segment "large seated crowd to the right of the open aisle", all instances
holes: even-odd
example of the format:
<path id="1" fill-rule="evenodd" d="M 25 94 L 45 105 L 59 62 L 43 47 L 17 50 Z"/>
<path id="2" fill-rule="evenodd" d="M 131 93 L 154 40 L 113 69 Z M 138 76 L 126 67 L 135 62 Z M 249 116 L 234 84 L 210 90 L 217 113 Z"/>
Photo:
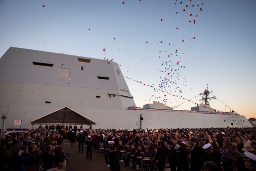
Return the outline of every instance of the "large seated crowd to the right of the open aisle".
<path id="1" fill-rule="evenodd" d="M 144 157 L 151 157 L 151 168 L 157 167 L 158 170 L 166 167 L 171 170 L 246 170 L 253 167 L 247 168 L 243 159 L 245 151 L 255 154 L 255 130 L 98 129 L 91 131 L 91 134 L 98 135 L 98 141 L 103 141 L 104 149 L 107 148 L 107 142 L 113 140 L 117 149 L 125 151 L 120 161 L 134 168 L 140 167 Z"/>

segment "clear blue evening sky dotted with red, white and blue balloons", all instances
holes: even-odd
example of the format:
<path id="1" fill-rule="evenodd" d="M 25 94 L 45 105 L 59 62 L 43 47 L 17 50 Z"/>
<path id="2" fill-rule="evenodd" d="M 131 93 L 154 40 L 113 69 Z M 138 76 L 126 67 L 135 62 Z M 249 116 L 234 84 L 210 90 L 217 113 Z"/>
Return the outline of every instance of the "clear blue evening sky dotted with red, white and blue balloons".
<path id="1" fill-rule="evenodd" d="M 113 59 L 138 107 L 190 109 L 208 84 L 212 108 L 256 118 L 255 17 L 254 0 L 0 0 L 0 56 Z"/>

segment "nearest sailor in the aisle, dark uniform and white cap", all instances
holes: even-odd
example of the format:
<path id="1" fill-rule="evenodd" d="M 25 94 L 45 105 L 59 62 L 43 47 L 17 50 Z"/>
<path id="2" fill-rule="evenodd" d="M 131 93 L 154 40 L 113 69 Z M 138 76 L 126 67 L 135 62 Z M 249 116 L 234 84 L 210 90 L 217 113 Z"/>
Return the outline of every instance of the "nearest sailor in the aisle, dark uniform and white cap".
<path id="1" fill-rule="evenodd" d="M 120 171 L 120 164 L 118 160 L 118 151 L 116 147 L 114 147 L 114 141 L 108 141 L 109 148 L 105 153 L 105 161 L 110 170 L 112 171 Z M 120 151 L 119 151 L 120 153 Z"/>

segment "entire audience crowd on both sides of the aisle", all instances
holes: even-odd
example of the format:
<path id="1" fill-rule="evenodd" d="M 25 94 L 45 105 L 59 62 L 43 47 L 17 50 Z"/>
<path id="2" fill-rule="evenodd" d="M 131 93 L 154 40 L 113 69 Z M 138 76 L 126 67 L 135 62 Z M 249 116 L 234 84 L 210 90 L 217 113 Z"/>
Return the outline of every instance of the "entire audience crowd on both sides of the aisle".
<path id="1" fill-rule="evenodd" d="M 66 128 L 67 127 L 67 128 Z M 92 149 L 105 154 L 110 170 L 120 162 L 135 169 L 145 157 L 150 167 L 163 170 L 256 170 L 256 128 L 201 129 L 78 129 L 76 126 L 38 128 L 1 136 L 0 170 L 65 170 L 62 140 L 78 144 L 93 160 Z M 64 128 L 64 129 L 63 129 Z M 76 143 L 78 141 L 78 143 Z"/>

